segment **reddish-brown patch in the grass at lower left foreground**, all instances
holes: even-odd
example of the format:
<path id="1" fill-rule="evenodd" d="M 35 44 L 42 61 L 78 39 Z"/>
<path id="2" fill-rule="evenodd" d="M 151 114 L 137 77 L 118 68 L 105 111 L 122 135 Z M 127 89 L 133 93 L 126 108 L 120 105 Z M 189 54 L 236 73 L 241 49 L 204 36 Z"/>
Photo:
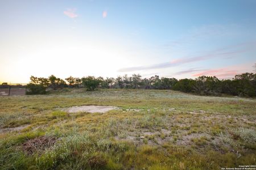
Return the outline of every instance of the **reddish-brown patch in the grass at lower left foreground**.
<path id="1" fill-rule="evenodd" d="M 23 143 L 22 150 L 25 151 L 28 155 L 32 155 L 34 152 L 42 152 L 53 146 L 56 142 L 54 137 L 38 137 L 30 139 L 27 142 Z"/>

